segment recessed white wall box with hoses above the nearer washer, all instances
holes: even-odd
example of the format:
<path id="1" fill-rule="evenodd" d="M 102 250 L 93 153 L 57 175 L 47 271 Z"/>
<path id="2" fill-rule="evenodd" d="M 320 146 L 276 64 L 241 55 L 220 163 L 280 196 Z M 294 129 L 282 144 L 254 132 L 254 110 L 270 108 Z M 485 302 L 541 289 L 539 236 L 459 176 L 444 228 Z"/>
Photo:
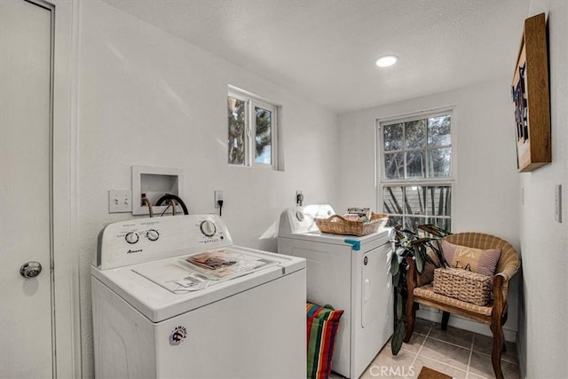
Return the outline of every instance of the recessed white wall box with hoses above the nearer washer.
<path id="1" fill-rule="evenodd" d="M 149 214 L 147 205 L 142 201 L 142 194 L 144 193 L 152 204 L 155 216 L 161 215 L 164 211 L 171 215 L 172 209 L 171 207 L 168 208 L 168 204 L 164 203 L 161 206 L 155 204 L 166 193 L 175 194 L 185 201 L 183 183 L 184 173 L 181 169 L 132 166 L 132 214 Z M 177 205 L 176 213 L 182 212 L 183 209 Z"/>

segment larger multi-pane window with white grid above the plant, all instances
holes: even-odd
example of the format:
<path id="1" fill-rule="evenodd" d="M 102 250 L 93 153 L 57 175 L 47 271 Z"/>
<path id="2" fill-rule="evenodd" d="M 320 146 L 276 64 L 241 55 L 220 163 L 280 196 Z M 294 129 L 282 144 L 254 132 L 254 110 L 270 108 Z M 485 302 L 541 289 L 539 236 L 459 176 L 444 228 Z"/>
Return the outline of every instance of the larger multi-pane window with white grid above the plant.
<path id="1" fill-rule="evenodd" d="M 379 203 L 390 225 L 451 230 L 452 110 L 378 121 Z"/>

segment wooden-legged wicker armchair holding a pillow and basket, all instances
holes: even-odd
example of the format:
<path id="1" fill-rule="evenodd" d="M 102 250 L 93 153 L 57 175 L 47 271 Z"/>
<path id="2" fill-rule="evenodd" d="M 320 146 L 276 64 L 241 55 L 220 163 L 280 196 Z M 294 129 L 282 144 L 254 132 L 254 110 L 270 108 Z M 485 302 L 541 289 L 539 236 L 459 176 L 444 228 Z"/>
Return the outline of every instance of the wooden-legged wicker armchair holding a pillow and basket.
<path id="1" fill-rule="evenodd" d="M 520 258 L 517 250 L 509 242 L 498 237 L 483 233 L 455 233 L 447 236 L 446 241 L 456 245 L 468 246 L 476 249 L 501 249 L 501 257 L 493 277 L 493 301 L 486 306 L 479 306 L 462 302 L 452 297 L 446 297 L 434 293 L 430 283 L 424 283 L 423 276 L 419 277 L 412 258 L 407 258 L 408 272 L 406 283 L 408 299 L 406 302 L 406 335 L 407 343 L 414 330 L 415 310 L 414 304 L 424 304 L 441 310 L 442 329 L 446 330 L 450 313 L 458 314 L 470 320 L 475 320 L 489 325 L 493 333 L 493 371 L 495 377 L 503 378 L 501 371 L 501 352 L 504 347 L 503 324 L 507 321 L 507 290 L 509 280 L 517 272 L 520 266 Z M 418 284 L 420 283 L 420 285 Z"/>

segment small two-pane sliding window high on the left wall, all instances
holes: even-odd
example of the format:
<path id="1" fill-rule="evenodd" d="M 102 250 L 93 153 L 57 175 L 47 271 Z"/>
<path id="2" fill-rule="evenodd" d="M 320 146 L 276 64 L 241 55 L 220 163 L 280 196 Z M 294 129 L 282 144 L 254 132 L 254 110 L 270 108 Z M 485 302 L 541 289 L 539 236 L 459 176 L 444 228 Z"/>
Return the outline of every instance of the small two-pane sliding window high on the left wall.
<path id="1" fill-rule="evenodd" d="M 227 162 L 277 170 L 277 107 L 231 88 L 228 97 Z"/>

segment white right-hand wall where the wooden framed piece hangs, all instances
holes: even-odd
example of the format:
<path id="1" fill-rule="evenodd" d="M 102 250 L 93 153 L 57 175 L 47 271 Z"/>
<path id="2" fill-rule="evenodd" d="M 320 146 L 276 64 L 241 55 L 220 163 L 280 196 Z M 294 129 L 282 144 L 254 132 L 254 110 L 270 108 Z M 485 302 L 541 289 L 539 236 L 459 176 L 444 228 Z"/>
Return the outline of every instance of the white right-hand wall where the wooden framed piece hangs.
<path id="1" fill-rule="evenodd" d="M 548 66 L 552 127 L 552 163 L 520 175 L 525 191 L 521 207 L 520 236 L 523 247 L 523 293 L 519 322 L 521 368 L 525 377 L 568 377 L 568 3 L 533 1 L 533 16 L 548 17 Z M 530 107 L 530 106 L 529 106 Z M 554 217 L 554 188 L 562 185 L 563 222 Z"/>

